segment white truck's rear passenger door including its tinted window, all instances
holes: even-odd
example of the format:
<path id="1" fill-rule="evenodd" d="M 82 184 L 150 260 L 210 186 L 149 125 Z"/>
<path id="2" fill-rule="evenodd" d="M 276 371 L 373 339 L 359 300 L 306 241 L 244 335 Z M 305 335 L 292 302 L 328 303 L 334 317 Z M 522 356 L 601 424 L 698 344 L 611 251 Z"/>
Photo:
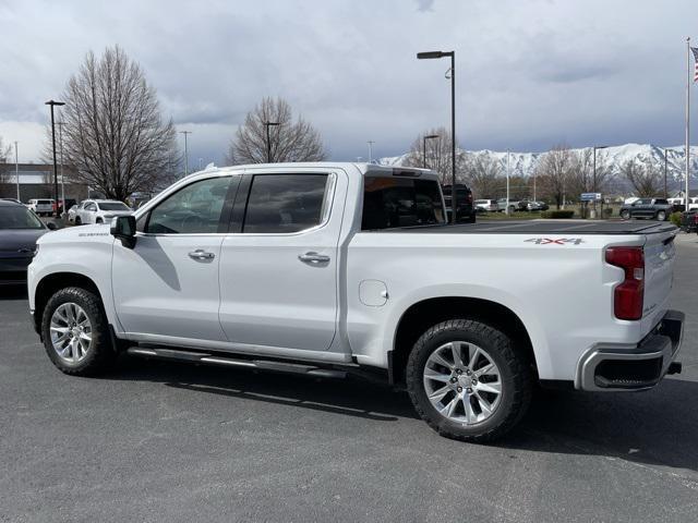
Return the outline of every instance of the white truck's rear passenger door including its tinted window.
<path id="1" fill-rule="evenodd" d="M 345 177 L 326 169 L 245 171 L 220 252 L 220 324 L 228 341 L 329 348 L 344 210 L 336 190 Z"/>

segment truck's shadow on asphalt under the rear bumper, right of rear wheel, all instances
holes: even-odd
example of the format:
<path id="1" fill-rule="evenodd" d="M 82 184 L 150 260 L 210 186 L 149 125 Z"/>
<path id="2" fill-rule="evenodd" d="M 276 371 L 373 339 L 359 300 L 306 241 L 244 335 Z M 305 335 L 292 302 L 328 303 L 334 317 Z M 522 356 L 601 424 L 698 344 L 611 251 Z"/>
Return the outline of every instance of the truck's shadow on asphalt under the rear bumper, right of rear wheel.
<path id="1" fill-rule="evenodd" d="M 496 446 L 698 471 L 696 399 L 698 382 L 673 378 L 646 392 L 543 391 Z"/>

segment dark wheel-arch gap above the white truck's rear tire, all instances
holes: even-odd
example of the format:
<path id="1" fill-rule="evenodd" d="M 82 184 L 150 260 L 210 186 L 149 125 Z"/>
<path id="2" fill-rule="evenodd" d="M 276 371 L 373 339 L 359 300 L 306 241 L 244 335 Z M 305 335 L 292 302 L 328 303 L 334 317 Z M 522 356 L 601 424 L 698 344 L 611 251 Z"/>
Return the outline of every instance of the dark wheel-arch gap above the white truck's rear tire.
<path id="1" fill-rule="evenodd" d="M 457 318 L 482 321 L 507 333 L 538 372 L 531 337 L 521 318 L 509 307 L 479 297 L 430 297 L 410 305 L 398 320 L 393 349 L 388 353 L 390 382 L 405 385 L 407 360 L 420 336 L 441 321 Z"/>

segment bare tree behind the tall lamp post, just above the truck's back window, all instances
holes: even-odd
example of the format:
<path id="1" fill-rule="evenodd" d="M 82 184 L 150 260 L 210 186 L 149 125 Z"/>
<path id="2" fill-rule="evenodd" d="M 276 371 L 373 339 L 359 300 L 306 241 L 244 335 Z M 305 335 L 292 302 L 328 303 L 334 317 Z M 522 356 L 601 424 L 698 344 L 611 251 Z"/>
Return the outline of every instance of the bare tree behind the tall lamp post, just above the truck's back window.
<path id="1" fill-rule="evenodd" d="M 424 141 L 424 136 L 437 136 Z M 426 148 L 424 148 L 426 144 Z M 445 127 L 430 129 L 420 134 L 407 155 L 404 163 L 406 167 L 424 167 L 438 173 L 442 184 L 448 185 L 453 181 L 453 139 L 450 133 Z M 456 144 L 456 181 L 464 181 L 466 178 L 466 154 Z"/>

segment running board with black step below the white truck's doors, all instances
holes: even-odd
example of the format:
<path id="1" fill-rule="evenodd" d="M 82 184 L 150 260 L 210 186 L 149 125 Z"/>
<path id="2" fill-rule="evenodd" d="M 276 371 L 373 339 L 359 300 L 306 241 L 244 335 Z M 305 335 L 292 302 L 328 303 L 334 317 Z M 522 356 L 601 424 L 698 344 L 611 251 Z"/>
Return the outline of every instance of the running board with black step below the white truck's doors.
<path id="1" fill-rule="evenodd" d="M 346 370 L 336 370 L 333 368 L 322 368 L 314 365 L 305 365 L 300 363 L 278 362 L 270 360 L 238 360 L 232 357 L 224 357 L 207 354 L 205 352 L 179 351 L 172 349 L 154 349 L 131 346 L 127 350 L 128 354 L 144 357 L 157 357 L 161 360 L 177 360 L 180 362 L 201 363 L 208 365 L 219 365 L 224 367 L 246 367 L 260 370 L 276 370 L 279 373 L 302 374 L 305 376 L 314 376 L 317 378 L 346 378 Z"/>

